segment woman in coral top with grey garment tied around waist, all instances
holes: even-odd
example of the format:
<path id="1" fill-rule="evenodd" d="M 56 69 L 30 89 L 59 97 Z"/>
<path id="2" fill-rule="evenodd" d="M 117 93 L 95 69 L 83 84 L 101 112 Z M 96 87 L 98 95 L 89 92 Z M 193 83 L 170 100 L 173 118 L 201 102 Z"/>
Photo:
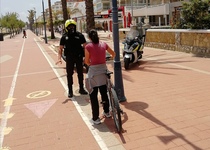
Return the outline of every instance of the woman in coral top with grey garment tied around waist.
<path id="1" fill-rule="evenodd" d="M 92 108 L 92 121 L 94 124 L 100 124 L 99 118 L 99 103 L 98 90 L 101 94 L 103 104 L 103 115 L 111 117 L 109 114 L 109 100 L 106 86 L 106 51 L 112 58 L 115 57 L 115 52 L 107 45 L 107 43 L 99 41 L 98 33 L 92 29 L 88 33 L 90 43 L 85 46 L 85 63 L 89 66 L 86 78 L 86 88 L 90 95 Z"/>

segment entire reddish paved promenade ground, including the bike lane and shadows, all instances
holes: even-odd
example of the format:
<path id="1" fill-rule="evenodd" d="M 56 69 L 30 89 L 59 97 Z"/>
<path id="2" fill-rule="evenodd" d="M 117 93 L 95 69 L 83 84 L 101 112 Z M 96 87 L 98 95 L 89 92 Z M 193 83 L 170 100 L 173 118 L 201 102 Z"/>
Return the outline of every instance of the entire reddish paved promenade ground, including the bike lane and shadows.
<path id="1" fill-rule="evenodd" d="M 111 118 L 90 122 L 76 73 L 67 98 L 65 62 L 55 65 L 59 39 L 27 34 L 0 42 L 0 150 L 210 150 L 209 58 L 145 47 L 129 70 L 122 62 L 127 101 L 118 134 Z M 99 35 L 113 47 L 111 33 Z M 113 61 L 107 66 L 114 70 Z"/>

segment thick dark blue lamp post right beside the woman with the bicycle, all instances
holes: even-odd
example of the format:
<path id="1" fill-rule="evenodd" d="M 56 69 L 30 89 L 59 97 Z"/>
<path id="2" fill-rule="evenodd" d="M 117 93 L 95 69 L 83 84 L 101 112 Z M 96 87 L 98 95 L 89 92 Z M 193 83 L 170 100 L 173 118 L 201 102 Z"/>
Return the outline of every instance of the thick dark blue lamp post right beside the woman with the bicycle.
<path id="1" fill-rule="evenodd" d="M 126 97 L 124 95 L 122 70 L 120 62 L 117 0 L 112 0 L 112 16 L 113 16 L 112 22 L 113 22 L 114 51 L 116 53 L 116 56 L 114 58 L 114 83 L 119 101 L 124 102 L 126 101 Z"/>

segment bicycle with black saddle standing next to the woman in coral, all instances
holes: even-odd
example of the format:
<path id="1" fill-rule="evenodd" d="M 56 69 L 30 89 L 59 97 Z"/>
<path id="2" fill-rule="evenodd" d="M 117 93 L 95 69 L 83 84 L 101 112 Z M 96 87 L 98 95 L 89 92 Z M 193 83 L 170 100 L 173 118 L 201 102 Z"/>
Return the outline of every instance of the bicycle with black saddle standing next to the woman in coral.
<path id="1" fill-rule="evenodd" d="M 122 131 L 121 114 L 123 114 L 123 111 L 120 108 L 119 99 L 114 89 L 114 85 L 111 81 L 111 74 L 113 74 L 113 72 L 107 70 L 106 75 L 107 75 L 107 92 L 108 92 L 108 98 L 109 98 L 109 109 L 110 109 L 110 114 L 112 115 L 114 119 L 114 123 L 117 128 L 117 131 L 121 132 Z"/>

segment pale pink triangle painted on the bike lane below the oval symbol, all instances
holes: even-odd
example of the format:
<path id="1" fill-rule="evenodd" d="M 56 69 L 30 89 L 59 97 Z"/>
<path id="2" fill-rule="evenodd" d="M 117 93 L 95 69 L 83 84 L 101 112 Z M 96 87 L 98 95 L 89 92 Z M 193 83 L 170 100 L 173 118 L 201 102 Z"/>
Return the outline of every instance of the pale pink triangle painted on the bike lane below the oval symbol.
<path id="1" fill-rule="evenodd" d="M 57 99 L 34 102 L 24 104 L 29 110 L 31 110 L 39 119 L 50 109 L 50 107 L 56 102 Z"/>

